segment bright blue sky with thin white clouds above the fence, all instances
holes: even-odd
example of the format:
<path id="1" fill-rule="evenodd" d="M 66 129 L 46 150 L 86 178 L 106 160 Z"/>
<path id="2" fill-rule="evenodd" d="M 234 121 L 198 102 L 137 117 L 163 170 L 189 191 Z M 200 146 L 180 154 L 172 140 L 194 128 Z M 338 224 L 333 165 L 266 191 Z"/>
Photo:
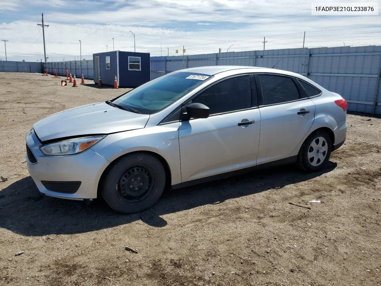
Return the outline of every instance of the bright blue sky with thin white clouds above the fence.
<path id="1" fill-rule="evenodd" d="M 315 1 L 332 3 L 333 1 Z M 343 45 L 381 45 L 378 16 L 311 16 L 314 1 L 0 0 L 0 38 L 8 60 L 92 59 L 122 50 L 151 56 Z M 348 1 L 336 0 L 335 3 Z M 352 2 L 352 1 L 351 1 Z M 381 0 L 357 0 L 379 3 Z M 135 35 L 135 47 L 134 36 Z M 114 38 L 114 40 L 113 40 Z M 80 42 L 81 41 L 81 42 Z M 5 60 L 4 42 L 0 58 Z"/>

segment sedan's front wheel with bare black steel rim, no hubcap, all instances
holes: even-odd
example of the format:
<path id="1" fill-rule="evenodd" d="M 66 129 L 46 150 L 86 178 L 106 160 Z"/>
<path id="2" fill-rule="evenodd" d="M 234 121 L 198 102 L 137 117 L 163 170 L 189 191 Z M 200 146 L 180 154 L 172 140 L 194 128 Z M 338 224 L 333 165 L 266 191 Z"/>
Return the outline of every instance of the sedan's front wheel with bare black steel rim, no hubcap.
<path id="1" fill-rule="evenodd" d="M 165 188 L 165 170 L 157 157 L 132 153 L 121 157 L 108 170 L 101 193 L 115 211 L 133 214 L 158 201 Z"/>

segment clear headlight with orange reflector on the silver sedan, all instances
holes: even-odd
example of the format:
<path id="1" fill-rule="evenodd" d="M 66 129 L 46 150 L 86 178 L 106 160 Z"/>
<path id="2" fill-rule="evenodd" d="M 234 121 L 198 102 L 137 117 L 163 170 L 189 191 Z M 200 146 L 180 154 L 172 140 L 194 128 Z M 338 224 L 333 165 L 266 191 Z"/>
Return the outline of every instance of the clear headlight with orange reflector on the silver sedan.
<path id="1" fill-rule="evenodd" d="M 78 137 L 62 140 L 40 147 L 45 155 L 72 155 L 81 153 L 101 141 L 106 135 Z"/>

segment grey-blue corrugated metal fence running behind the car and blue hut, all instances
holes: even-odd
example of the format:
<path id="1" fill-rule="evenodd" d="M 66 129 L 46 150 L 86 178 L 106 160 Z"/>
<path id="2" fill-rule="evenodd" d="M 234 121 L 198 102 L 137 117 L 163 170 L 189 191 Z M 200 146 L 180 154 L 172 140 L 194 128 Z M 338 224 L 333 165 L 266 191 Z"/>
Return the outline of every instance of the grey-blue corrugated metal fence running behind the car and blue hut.
<path id="1" fill-rule="evenodd" d="M 68 72 L 94 79 L 93 60 L 64 62 L 2 61 L 4 72 L 43 72 L 66 77 Z M 349 111 L 381 114 L 381 46 L 296 48 L 151 57 L 151 79 L 168 72 L 199 66 L 259 66 L 296 72 L 341 94 Z M 42 67 L 42 69 L 41 69 Z"/>

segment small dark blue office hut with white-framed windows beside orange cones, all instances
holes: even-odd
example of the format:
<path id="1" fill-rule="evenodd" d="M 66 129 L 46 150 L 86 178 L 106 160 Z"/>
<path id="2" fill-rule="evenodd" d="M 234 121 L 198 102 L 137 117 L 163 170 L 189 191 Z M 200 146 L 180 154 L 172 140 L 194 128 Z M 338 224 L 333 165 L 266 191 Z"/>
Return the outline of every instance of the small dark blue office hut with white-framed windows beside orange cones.
<path id="1" fill-rule="evenodd" d="M 131 51 L 109 51 L 93 54 L 94 82 L 101 74 L 102 84 L 138 87 L 150 80 L 150 54 Z"/>

